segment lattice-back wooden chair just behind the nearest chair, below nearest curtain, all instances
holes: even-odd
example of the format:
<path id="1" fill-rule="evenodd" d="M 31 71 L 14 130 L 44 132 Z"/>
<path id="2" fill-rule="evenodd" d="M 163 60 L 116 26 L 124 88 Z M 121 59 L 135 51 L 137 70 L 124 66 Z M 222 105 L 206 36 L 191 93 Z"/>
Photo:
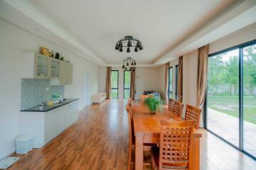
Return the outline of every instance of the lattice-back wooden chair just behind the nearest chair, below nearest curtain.
<path id="1" fill-rule="evenodd" d="M 196 120 L 195 127 L 197 130 L 200 125 L 201 109 L 191 105 L 186 105 L 185 120 Z"/>

